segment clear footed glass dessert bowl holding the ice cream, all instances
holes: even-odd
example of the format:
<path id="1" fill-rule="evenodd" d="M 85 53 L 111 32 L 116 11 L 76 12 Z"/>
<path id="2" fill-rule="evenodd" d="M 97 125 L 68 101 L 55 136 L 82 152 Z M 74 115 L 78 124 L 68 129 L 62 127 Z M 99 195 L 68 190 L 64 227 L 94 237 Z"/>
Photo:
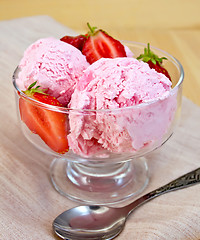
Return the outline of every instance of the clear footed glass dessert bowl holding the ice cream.
<path id="1" fill-rule="evenodd" d="M 144 51 L 144 44 L 123 43 L 134 56 Z M 152 49 L 168 59 L 164 66 L 171 76 L 172 89 L 167 96 L 134 106 L 93 110 L 48 105 L 21 91 L 16 83 L 20 69 L 14 72 L 22 132 L 53 159 L 50 176 L 60 194 L 85 204 L 115 204 L 137 196 L 147 186 L 148 153 L 165 143 L 174 132 L 180 118 L 184 78 L 178 60 L 160 49 Z M 21 101 L 37 112 L 45 111 L 53 118 L 62 119 L 62 136 L 69 150 L 57 148 L 59 137 L 53 139 L 52 146 L 39 134 L 33 134 L 23 119 Z M 48 122 L 43 124 L 47 126 Z"/>

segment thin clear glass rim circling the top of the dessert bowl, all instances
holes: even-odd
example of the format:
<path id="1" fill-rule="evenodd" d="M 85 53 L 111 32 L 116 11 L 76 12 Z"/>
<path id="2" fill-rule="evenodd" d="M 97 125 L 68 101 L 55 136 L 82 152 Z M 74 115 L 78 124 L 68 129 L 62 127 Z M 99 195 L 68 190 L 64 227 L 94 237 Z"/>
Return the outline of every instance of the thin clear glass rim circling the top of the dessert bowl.
<path id="1" fill-rule="evenodd" d="M 140 42 L 135 42 L 135 41 L 127 41 L 127 40 L 123 40 L 121 41 L 124 45 L 139 45 L 139 46 L 143 46 L 145 47 L 146 44 L 145 43 L 140 43 Z M 36 99 L 33 99 L 29 96 L 27 96 L 23 91 L 21 91 L 16 84 L 16 78 L 15 75 L 16 73 L 19 71 L 19 66 L 16 67 L 12 79 L 13 79 L 13 85 L 15 87 L 15 90 L 18 92 L 18 95 L 20 95 L 20 97 L 28 100 L 29 102 L 32 102 L 35 105 L 38 105 L 39 107 L 43 107 L 45 109 L 49 109 L 51 111 L 56 111 L 56 112 L 62 112 L 62 113 L 67 113 L 69 111 L 77 111 L 77 112 L 92 112 L 92 113 L 96 113 L 96 112 L 113 112 L 113 111 L 122 111 L 122 110 L 128 110 L 128 109 L 138 109 L 138 108 L 142 108 L 151 104 L 154 104 L 160 100 L 164 100 L 167 99 L 168 97 L 170 97 L 171 95 L 173 95 L 174 93 L 176 93 L 176 91 L 178 90 L 178 88 L 181 86 L 183 79 L 184 79 L 184 70 L 183 70 L 183 66 L 182 64 L 179 62 L 178 59 L 176 59 L 175 57 L 173 57 L 170 53 L 159 49 L 157 47 L 151 46 L 152 49 L 157 50 L 159 52 L 162 52 L 164 55 L 169 56 L 172 60 L 173 63 L 176 65 L 177 69 L 180 72 L 180 77 L 179 80 L 177 82 L 177 84 L 171 89 L 170 94 L 164 98 L 158 98 L 156 100 L 152 100 L 152 101 L 148 101 L 145 103 L 140 103 L 134 106 L 128 106 L 128 107 L 121 107 L 121 108 L 112 108 L 112 109 L 76 109 L 76 108 L 67 108 L 67 107 L 59 107 L 59 106 L 53 106 L 53 105 L 49 105 L 40 101 L 37 101 Z"/>

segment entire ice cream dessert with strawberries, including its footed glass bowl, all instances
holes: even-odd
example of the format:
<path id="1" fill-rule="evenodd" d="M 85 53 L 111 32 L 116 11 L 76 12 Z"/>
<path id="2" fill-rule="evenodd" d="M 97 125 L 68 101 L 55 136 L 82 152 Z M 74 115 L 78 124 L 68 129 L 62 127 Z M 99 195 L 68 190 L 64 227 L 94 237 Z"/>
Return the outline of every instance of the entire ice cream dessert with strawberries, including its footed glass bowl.
<path id="1" fill-rule="evenodd" d="M 121 43 L 87 25 L 86 34 L 28 47 L 13 85 L 25 137 L 55 156 L 56 190 L 83 203 L 113 204 L 148 184 L 143 156 L 172 135 L 184 74 L 173 56 L 149 43 Z"/>

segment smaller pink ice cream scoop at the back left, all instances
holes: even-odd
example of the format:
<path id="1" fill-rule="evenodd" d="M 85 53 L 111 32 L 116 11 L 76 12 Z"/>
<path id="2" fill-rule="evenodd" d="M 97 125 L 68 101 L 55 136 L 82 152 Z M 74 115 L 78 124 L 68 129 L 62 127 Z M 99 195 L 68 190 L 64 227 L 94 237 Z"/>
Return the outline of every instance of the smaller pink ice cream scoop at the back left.
<path id="1" fill-rule="evenodd" d="M 26 90 L 37 81 L 48 94 L 67 105 L 83 71 L 89 66 L 77 48 L 55 38 L 33 43 L 24 53 L 17 85 Z"/>

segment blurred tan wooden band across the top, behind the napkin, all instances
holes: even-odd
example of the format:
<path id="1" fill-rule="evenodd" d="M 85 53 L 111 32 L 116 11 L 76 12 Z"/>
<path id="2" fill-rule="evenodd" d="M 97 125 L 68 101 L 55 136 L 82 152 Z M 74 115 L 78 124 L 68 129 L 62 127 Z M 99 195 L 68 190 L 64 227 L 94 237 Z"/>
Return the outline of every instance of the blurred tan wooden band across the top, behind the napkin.
<path id="1" fill-rule="evenodd" d="M 71 27 L 85 23 L 109 30 L 199 29 L 199 0 L 1 0 L 0 19 L 49 15 Z"/>

